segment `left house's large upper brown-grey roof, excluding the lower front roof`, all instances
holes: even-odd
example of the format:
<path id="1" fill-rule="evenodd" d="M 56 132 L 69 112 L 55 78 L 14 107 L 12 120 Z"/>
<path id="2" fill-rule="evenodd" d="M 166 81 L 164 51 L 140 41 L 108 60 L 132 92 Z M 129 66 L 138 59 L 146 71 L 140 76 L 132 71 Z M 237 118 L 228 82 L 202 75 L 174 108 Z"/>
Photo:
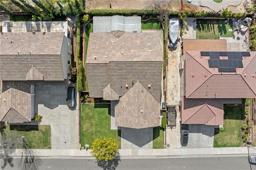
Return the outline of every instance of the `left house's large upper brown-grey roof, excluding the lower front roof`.
<path id="1" fill-rule="evenodd" d="M 1 33 L 0 78 L 64 80 L 60 56 L 63 38 L 64 32 Z"/>

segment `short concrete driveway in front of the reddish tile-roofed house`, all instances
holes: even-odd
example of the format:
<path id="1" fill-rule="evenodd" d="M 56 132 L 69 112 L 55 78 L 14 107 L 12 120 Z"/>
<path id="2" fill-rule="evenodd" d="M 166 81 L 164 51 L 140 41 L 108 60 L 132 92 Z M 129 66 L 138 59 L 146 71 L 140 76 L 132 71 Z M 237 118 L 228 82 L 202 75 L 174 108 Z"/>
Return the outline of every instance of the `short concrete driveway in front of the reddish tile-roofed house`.
<path id="1" fill-rule="evenodd" d="M 188 145 L 181 148 L 213 148 L 214 127 L 203 124 L 189 124 Z"/>

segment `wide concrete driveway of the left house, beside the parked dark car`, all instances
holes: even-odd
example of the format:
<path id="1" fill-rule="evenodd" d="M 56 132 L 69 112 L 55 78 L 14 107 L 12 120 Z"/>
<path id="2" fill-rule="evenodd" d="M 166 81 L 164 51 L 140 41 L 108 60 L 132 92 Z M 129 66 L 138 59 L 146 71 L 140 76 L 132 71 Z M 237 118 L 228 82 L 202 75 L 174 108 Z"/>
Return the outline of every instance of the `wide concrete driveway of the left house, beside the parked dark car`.
<path id="1" fill-rule="evenodd" d="M 42 115 L 40 124 L 51 125 L 52 149 L 78 148 L 77 107 L 67 107 L 66 82 L 40 82 L 35 86 L 35 113 Z"/>

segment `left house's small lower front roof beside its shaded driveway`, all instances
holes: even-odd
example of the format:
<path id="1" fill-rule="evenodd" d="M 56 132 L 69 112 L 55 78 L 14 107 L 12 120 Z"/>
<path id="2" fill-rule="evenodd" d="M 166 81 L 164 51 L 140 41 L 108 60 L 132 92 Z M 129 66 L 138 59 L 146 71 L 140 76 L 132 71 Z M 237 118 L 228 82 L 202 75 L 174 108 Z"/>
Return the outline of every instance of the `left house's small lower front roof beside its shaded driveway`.
<path id="1" fill-rule="evenodd" d="M 3 81 L 0 105 L 0 121 L 30 122 L 30 85 L 24 82 Z"/>

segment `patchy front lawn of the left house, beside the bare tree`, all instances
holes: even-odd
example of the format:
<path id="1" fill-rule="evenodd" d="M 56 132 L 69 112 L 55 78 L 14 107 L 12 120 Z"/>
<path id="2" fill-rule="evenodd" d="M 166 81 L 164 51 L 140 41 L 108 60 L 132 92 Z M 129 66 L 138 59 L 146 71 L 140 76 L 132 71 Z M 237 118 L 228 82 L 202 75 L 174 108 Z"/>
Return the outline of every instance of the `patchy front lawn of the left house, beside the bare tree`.
<path id="1" fill-rule="evenodd" d="M 25 136 L 32 149 L 51 149 L 50 125 L 5 125 L 1 130 L 15 136 Z"/>

